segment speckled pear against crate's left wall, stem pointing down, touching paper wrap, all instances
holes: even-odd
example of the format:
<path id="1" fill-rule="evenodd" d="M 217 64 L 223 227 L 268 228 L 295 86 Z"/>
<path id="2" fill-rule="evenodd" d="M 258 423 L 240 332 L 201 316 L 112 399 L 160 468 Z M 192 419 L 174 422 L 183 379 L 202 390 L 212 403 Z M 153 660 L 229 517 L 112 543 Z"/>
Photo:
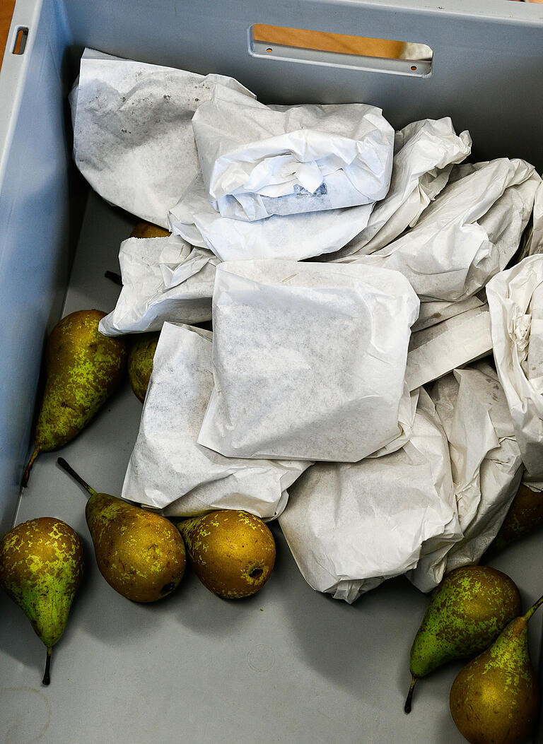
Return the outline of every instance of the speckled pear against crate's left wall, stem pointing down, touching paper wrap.
<path id="1" fill-rule="evenodd" d="M 98 331 L 105 312 L 77 310 L 66 315 L 45 346 L 45 391 L 34 432 L 34 453 L 22 486 L 39 452 L 59 449 L 79 434 L 126 373 L 124 339 Z"/>

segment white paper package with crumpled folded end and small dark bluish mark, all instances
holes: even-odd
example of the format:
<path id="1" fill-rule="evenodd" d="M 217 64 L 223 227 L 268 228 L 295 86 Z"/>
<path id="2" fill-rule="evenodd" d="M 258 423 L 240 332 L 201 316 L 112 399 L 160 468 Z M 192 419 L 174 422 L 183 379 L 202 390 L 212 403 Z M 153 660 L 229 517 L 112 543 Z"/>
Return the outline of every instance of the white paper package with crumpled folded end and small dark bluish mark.
<path id="1" fill-rule="evenodd" d="M 390 185 L 394 130 L 375 106 L 264 106 L 216 86 L 192 127 L 206 190 L 223 217 L 369 204 Z"/>

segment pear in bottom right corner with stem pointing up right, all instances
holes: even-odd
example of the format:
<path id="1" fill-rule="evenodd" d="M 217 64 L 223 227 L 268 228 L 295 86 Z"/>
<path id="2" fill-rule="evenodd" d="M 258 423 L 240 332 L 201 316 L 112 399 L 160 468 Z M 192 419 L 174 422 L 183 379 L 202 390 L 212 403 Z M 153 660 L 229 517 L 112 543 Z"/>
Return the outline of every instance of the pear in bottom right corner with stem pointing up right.
<path id="1" fill-rule="evenodd" d="M 460 671 L 451 687 L 451 715 L 471 744 L 519 744 L 536 725 L 539 687 L 528 650 L 528 620 L 511 620 L 491 647 Z"/>

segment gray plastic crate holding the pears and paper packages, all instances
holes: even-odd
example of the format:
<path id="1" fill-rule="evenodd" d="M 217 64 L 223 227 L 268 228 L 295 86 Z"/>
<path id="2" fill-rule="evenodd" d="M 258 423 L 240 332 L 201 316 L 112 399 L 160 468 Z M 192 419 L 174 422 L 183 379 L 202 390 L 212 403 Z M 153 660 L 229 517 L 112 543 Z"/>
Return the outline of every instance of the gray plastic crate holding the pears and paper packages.
<path id="1" fill-rule="evenodd" d="M 403 126 L 451 115 L 470 129 L 474 156 L 527 158 L 543 167 L 543 6 L 478 0 L 18 0 L 0 74 L 0 528 L 58 516 L 83 536 L 86 578 L 50 687 L 43 647 L 0 595 L 0 740 L 10 744 L 352 744 L 463 741 L 448 713 L 460 664 L 403 701 L 408 655 L 427 598 L 406 580 L 347 606 L 304 582 L 278 527 L 276 571 L 255 597 L 226 602 L 191 571 L 168 600 L 124 600 L 102 579 L 83 516 L 84 496 L 40 456 L 28 490 L 39 362 L 48 330 L 83 307 L 109 310 L 130 215 L 75 173 L 66 94 L 85 46 L 201 73 L 237 77 L 261 100 L 363 101 Z M 251 49 L 254 23 L 425 42 L 431 74 L 393 62 Z M 11 53 L 19 28 L 24 54 Z M 354 65 L 354 66 L 353 66 Z M 118 494 L 141 405 L 128 387 L 63 455 L 98 490 Z M 541 537 L 493 562 L 521 589 L 543 591 Z M 533 660 L 543 616 L 530 630 Z M 541 664 L 540 664 L 541 667 Z M 543 741 L 540 733 L 537 741 Z"/>

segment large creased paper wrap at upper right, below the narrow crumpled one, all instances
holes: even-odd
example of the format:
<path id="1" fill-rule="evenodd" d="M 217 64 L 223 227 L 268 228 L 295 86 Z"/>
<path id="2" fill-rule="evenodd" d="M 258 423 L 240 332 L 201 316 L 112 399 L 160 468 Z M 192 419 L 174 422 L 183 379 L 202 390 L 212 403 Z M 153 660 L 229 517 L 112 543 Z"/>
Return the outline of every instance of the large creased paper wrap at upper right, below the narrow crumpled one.
<path id="1" fill-rule="evenodd" d="M 518 249 L 541 179 L 518 159 L 456 168 L 462 177 L 448 183 L 414 228 L 370 256 L 342 262 L 396 269 L 421 301 L 460 301 L 478 292 Z"/>

